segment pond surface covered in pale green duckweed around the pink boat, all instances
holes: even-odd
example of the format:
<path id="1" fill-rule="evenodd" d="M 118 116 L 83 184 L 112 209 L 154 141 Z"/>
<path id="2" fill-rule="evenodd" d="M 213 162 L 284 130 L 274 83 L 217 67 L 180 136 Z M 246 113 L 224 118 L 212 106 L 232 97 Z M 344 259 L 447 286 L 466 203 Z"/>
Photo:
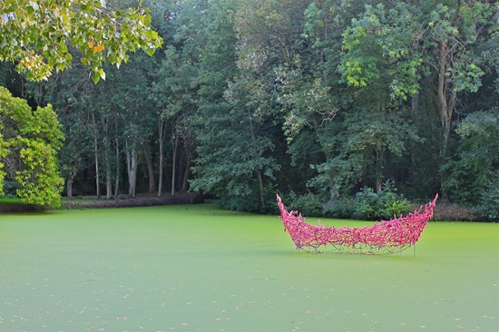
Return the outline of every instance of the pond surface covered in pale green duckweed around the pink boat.
<path id="1" fill-rule="evenodd" d="M 210 204 L 0 215 L 0 331 L 497 331 L 498 265 L 493 223 L 373 256 Z"/>

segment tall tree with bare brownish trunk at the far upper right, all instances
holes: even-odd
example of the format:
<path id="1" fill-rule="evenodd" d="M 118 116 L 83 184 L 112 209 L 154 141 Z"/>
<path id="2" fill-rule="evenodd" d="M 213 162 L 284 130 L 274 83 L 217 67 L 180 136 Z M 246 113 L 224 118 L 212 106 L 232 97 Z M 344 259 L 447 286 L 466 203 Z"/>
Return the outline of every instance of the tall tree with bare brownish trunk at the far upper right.
<path id="1" fill-rule="evenodd" d="M 429 15 L 428 15 L 429 14 Z M 438 4 L 422 17 L 426 65 L 437 76 L 436 104 L 442 126 L 441 154 L 446 156 L 458 93 L 477 92 L 484 74 L 483 59 L 474 47 L 488 38 L 497 22 L 497 6 L 479 1 Z M 422 24 L 422 25 L 423 25 Z"/>

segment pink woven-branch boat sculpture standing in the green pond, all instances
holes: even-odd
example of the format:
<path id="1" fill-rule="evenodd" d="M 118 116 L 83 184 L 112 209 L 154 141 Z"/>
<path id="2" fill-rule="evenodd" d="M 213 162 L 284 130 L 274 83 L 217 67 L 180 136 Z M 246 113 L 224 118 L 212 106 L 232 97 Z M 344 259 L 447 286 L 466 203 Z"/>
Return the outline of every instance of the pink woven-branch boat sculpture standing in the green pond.
<path id="1" fill-rule="evenodd" d="M 298 211 L 288 211 L 277 195 L 280 219 L 297 249 L 365 254 L 393 254 L 416 244 L 428 220 L 433 218 L 435 199 L 419 210 L 389 221 L 379 221 L 361 228 L 318 226 L 309 224 Z"/>

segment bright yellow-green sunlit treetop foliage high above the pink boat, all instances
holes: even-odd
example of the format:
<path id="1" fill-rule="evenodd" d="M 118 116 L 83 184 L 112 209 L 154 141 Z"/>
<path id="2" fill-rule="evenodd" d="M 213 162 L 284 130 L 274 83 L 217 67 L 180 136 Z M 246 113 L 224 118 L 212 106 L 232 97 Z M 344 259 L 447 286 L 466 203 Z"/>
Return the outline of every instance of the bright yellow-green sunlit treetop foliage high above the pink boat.
<path id="1" fill-rule="evenodd" d="M 421 54 L 412 48 L 415 17 L 405 3 L 366 5 L 343 32 L 339 72 L 350 85 L 366 87 L 384 81 L 392 97 L 406 100 L 419 90 Z M 416 30 L 416 31 L 415 31 Z"/>

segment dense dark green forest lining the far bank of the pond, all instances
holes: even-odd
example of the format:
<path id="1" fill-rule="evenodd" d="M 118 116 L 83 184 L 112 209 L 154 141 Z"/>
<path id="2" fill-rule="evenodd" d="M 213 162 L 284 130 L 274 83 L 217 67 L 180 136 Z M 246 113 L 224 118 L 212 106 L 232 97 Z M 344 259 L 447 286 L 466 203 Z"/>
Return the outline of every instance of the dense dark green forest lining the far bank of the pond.
<path id="1" fill-rule="evenodd" d="M 84 54 L 40 83 L 0 64 L 0 85 L 57 113 L 64 195 L 202 190 L 266 212 L 276 192 L 321 207 L 359 192 L 438 192 L 499 218 L 493 1 L 142 5 L 163 47 L 105 64 L 98 83 Z M 7 174 L 5 192 L 16 189 Z"/>

